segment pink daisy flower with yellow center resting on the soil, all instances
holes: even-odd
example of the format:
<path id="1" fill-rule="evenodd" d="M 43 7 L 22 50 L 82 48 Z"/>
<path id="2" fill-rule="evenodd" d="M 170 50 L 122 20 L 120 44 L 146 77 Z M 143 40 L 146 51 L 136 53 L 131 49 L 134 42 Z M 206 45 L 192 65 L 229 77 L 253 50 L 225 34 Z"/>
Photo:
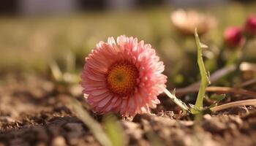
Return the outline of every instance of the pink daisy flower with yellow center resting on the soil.
<path id="1" fill-rule="evenodd" d="M 83 93 L 94 112 L 134 116 L 160 103 L 165 66 L 155 50 L 137 38 L 120 36 L 99 42 L 83 67 Z"/>

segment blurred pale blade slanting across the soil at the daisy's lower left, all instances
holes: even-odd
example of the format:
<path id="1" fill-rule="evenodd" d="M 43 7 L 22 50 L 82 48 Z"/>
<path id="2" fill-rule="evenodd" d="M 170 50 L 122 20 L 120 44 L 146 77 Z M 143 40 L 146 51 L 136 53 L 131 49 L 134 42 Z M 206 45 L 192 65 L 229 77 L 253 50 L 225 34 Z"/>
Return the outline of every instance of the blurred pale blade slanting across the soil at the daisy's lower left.
<path id="1" fill-rule="evenodd" d="M 69 98 L 69 101 L 72 106 L 72 112 L 74 112 L 74 114 L 82 120 L 84 124 L 86 124 L 99 143 L 103 146 L 112 146 L 110 139 L 105 134 L 102 127 L 96 120 L 91 118 L 89 113 L 83 109 L 82 105 L 73 98 Z"/>

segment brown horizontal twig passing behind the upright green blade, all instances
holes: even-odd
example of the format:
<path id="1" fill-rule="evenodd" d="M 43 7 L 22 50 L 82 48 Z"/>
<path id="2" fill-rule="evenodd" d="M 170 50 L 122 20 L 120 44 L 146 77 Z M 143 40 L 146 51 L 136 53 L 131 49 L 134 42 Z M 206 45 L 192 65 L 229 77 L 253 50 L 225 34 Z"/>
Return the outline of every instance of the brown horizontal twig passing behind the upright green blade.
<path id="1" fill-rule="evenodd" d="M 197 88 L 191 88 L 191 89 L 186 89 L 186 88 L 181 88 L 181 89 L 176 89 L 176 95 L 181 96 L 186 93 L 193 93 L 197 92 Z M 251 96 L 253 98 L 256 98 L 256 93 L 253 91 L 247 91 L 242 88 L 229 88 L 229 87 L 217 87 L 217 86 L 211 86 L 207 87 L 206 91 L 208 92 L 218 92 L 218 93 L 235 93 L 235 94 L 241 94 L 241 95 L 246 95 L 246 96 Z"/>

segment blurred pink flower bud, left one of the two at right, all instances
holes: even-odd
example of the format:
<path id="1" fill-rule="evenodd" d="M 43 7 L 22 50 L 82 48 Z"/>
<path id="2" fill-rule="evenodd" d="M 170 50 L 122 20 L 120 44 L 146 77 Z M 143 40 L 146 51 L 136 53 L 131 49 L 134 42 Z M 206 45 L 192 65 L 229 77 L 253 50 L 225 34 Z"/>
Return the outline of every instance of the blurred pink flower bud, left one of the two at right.
<path id="1" fill-rule="evenodd" d="M 242 30 L 238 27 L 228 27 L 224 32 L 224 41 L 227 47 L 239 47 L 244 42 Z"/>

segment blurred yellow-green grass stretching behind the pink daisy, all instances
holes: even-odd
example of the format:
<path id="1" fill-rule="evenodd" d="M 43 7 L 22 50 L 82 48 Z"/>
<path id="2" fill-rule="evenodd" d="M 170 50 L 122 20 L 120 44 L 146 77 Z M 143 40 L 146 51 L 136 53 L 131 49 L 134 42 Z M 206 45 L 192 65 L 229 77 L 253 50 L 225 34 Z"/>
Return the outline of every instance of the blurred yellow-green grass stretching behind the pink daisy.
<path id="1" fill-rule="evenodd" d="M 209 50 L 222 46 L 227 26 L 242 26 L 246 16 L 256 14 L 256 4 L 232 3 L 196 9 L 213 15 L 217 28 L 201 37 Z M 127 12 L 94 12 L 69 16 L 0 18 L 0 73 L 49 72 L 48 62 L 55 60 L 64 68 L 67 54 L 75 53 L 77 72 L 97 42 L 121 34 L 150 43 L 165 62 L 168 85 L 179 87 L 200 79 L 193 37 L 178 34 L 170 22 L 173 7 L 135 9 Z M 256 61 L 256 43 L 249 45 L 246 60 Z M 217 69 L 215 58 L 207 58 L 206 68 Z"/>

